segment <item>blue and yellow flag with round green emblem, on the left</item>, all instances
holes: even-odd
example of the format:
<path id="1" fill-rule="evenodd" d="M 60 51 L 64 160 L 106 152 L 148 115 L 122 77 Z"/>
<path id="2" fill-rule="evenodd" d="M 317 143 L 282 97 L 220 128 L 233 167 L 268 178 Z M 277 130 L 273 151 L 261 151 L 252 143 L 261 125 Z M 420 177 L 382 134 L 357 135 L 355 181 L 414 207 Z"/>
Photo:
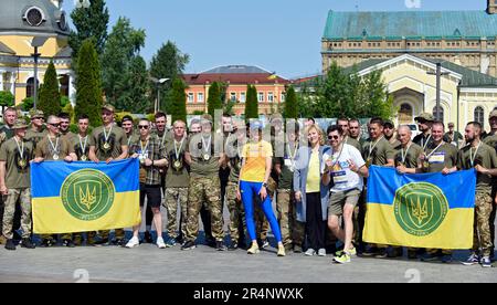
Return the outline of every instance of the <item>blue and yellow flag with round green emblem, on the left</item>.
<path id="1" fill-rule="evenodd" d="M 137 159 L 32 164 L 33 231 L 73 233 L 138 224 L 138 170 Z"/>

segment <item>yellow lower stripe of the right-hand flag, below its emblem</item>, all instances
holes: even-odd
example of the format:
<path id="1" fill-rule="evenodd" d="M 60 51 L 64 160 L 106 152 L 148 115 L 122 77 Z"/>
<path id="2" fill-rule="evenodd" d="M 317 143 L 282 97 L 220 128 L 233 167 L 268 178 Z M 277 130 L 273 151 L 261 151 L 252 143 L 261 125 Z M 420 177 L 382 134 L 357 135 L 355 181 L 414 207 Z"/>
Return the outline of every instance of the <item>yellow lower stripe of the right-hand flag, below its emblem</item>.
<path id="1" fill-rule="evenodd" d="M 473 246 L 474 209 L 451 209 L 436 231 L 414 236 L 396 222 L 394 209 L 368 204 L 363 239 L 370 243 L 430 249 L 470 249 Z"/>

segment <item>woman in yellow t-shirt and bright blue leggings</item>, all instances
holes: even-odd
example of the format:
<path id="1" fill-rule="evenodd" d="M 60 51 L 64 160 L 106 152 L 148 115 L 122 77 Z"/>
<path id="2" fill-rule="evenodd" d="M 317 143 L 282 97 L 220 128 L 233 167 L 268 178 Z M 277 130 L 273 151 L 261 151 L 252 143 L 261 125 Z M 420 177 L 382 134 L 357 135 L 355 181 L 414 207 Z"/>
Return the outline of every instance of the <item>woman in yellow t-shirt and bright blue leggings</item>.
<path id="1" fill-rule="evenodd" d="M 269 143 L 262 139 L 262 129 L 263 125 L 261 122 L 251 123 L 251 140 L 243 147 L 242 151 L 239 197 L 243 201 L 246 228 L 252 240 L 252 246 L 247 253 L 256 254 L 260 252 L 254 223 L 254 194 L 258 194 L 262 199 L 262 210 L 269 221 L 271 230 L 278 242 L 277 255 L 285 256 L 282 233 L 273 211 L 271 197 L 267 194 L 267 179 L 269 179 L 273 164 L 273 147 Z"/>

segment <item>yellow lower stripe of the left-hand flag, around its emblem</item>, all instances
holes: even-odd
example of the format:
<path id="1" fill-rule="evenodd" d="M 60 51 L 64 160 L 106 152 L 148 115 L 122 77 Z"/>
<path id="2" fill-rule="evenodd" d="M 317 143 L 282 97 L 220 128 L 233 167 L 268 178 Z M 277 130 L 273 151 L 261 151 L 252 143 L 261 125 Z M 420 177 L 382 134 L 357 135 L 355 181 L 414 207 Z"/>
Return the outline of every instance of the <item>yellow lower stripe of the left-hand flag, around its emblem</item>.
<path id="1" fill-rule="evenodd" d="M 60 197 L 33 199 L 33 231 L 38 234 L 129 228 L 140 221 L 139 191 L 117 192 L 110 210 L 93 221 L 74 218 L 65 210 Z"/>

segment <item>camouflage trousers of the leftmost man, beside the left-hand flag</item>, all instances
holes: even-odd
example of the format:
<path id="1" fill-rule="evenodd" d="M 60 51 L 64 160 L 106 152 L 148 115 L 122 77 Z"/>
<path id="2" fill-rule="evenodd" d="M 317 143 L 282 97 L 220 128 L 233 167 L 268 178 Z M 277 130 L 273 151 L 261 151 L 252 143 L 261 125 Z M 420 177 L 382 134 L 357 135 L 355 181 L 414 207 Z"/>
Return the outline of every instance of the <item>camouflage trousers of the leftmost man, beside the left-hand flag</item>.
<path id="1" fill-rule="evenodd" d="M 13 239 L 13 219 L 15 213 L 15 202 L 20 199 L 22 217 L 21 217 L 21 228 L 22 238 L 29 239 L 31 235 L 31 189 L 9 189 L 7 194 L 7 200 L 4 202 L 2 230 L 3 236 L 6 239 Z"/>

